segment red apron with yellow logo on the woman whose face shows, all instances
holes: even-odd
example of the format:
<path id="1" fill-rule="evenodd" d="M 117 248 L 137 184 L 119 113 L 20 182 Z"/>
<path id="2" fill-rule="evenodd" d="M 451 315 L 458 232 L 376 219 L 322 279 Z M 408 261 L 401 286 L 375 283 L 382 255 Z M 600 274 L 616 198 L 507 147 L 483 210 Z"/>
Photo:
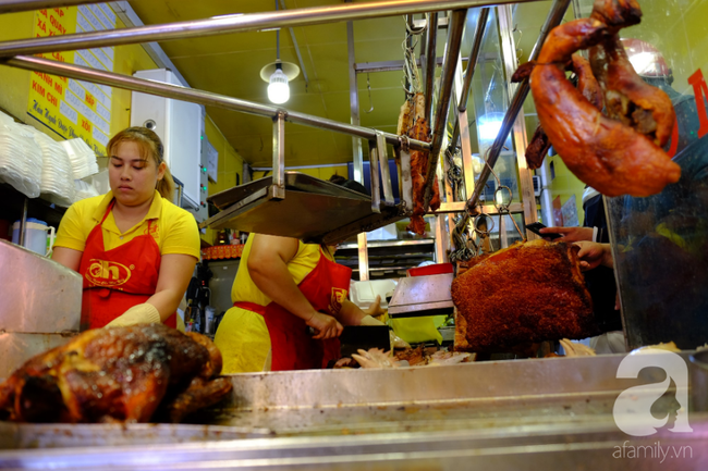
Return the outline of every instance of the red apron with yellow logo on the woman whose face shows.
<path id="1" fill-rule="evenodd" d="M 101 222 L 88 234 L 78 267 L 84 278 L 82 331 L 103 327 L 127 309 L 147 301 L 155 294 L 160 275 L 160 248 L 150 235 L 154 230 L 151 220 L 146 234 L 114 249 L 105 249 L 101 226 L 113 203 L 114 200 L 108 206 Z M 164 324 L 176 327 L 176 313 L 170 315 Z"/>

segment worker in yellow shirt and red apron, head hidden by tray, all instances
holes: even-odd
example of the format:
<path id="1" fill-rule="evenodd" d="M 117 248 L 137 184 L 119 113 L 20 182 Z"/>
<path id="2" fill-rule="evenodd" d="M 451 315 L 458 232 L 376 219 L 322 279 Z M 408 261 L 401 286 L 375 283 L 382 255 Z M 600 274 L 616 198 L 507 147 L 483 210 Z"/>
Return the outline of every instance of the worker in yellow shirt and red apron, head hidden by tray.
<path id="1" fill-rule="evenodd" d="M 332 247 L 251 234 L 231 289 L 234 307 L 215 343 L 223 373 L 325 368 L 339 359 L 342 325 L 382 325 L 346 299 L 351 269 Z M 315 335 L 309 332 L 312 327 Z"/>

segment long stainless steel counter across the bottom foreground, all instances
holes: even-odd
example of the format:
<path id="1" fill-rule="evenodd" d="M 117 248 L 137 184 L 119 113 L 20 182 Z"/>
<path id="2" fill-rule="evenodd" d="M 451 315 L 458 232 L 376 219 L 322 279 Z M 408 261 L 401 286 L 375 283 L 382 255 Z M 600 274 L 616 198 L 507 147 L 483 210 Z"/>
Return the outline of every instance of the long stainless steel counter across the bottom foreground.
<path id="1" fill-rule="evenodd" d="M 619 430 L 612 418 L 619 394 L 638 384 L 659 387 L 666 379 L 659 369 L 645 369 L 638 379 L 617 379 L 623 358 L 233 375 L 234 392 L 227 404 L 194 418 L 209 425 L 178 425 L 180 433 L 160 431 L 157 441 L 146 432 L 155 425 L 137 425 L 147 429 L 136 432 L 119 425 L 74 425 L 61 439 L 54 437 L 53 444 L 48 425 L 12 425 L 24 438 L 13 445 L 5 436 L 1 442 L 5 447 L 62 448 L 40 454 L 7 449 L 0 451 L 0 468 L 708 468 L 705 411 L 689 409 L 692 433 L 663 427 L 655 435 L 633 437 Z M 707 394 L 706 372 L 693 364 L 688 368 L 693 402 L 705 404 L 696 399 Z M 675 409 L 673 396 L 669 389 L 656 401 L 655 416 Z M 40 427 L 42 441 L 33 443 L 30 437 L 39 435 Z M 100 445 L 97 436 L 115 436 L 121 429 L 126 430 L 122 442 L 114 442 L 121 446 L 96 446 Z M 90 439 L 81 438 L 88 432 L 93 432 Z M 170 433 L 173 442 L 164 443 Z M 637 455 L 639 449 L 644 455 Z M 648 450 L 680 456 L 662 459 L 649 456 Z"/>

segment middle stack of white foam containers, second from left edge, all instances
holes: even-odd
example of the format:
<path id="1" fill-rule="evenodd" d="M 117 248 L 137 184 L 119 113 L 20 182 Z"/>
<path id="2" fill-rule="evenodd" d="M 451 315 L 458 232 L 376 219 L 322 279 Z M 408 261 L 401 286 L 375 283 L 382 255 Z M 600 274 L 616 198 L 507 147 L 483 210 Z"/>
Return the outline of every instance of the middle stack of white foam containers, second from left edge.
<path id="1" fill-rule="evenodd" d="M 41 149 L 41 183 L 44 199 L 61 207 L 74 202 L 74 172 L 64 147 L 46 134 L 34 131 L 34 138 Z"/>

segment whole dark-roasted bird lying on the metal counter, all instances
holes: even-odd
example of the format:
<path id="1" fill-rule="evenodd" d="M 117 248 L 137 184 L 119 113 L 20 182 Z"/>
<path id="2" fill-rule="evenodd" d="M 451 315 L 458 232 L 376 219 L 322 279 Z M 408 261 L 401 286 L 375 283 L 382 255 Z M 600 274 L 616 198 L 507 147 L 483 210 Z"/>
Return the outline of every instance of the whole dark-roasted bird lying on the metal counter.
<path id="1" fill-rule="evenodd" d="M 95 329 L 26 361 L 0 385 L 0 419 L 180 422 L 231 392 L 221 354 L 162 324 Z"/>

